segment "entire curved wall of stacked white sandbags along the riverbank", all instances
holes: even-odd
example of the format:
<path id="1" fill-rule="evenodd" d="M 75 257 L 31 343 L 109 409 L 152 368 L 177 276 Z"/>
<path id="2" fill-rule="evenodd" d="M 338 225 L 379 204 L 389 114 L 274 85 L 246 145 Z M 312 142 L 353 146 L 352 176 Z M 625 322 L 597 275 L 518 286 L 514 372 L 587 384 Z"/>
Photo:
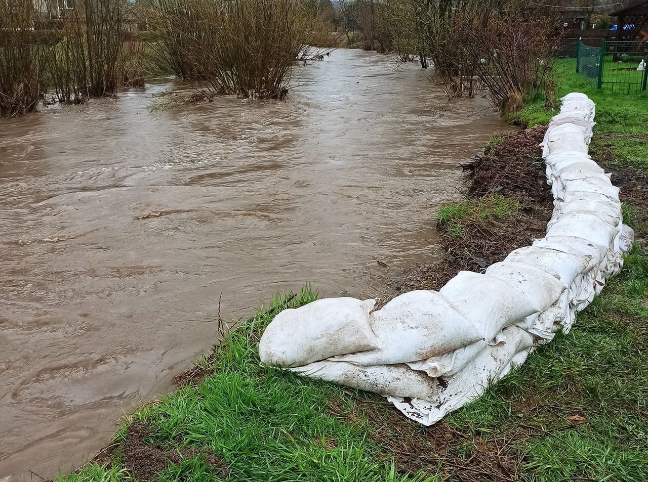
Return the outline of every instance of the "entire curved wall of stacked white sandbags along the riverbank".
<path id="1" fill-rule="evenodd" d="M 587 154 L 594 103 L 577 93 L 561 100 L 541 144 L 555 204 L 544 238 L 375 311 L 374 300 L 354 298 L 284 310 L 260 340 L 262 363 L 380 393 L 429 425 L 568 331 L 621 268 L 633 234 L 618 188 Z"/>

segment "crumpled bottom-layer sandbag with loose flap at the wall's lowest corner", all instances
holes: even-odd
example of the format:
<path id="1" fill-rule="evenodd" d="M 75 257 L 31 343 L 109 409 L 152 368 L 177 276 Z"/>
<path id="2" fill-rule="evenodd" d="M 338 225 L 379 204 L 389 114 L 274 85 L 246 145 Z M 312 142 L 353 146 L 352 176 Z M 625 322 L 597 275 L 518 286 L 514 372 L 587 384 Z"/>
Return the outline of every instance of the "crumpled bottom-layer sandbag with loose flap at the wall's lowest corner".
<path id="1" fill-rule="evenodd" d="M 506 375 L 512 368 L 512 360 L 520 363 L 533 346 L 534 337 L 515 325 L 502 330 L 502 342 L 487 345 L 474 360 L 455 375 L 443 377 L 439 383 L 436 399 L 403 400 L 402 397 L 388 397 L 406 417 L 424 425 L 432 425 L 446 413 L 456 410 L 470 400 L 479 397 L 485 389 Z"/>

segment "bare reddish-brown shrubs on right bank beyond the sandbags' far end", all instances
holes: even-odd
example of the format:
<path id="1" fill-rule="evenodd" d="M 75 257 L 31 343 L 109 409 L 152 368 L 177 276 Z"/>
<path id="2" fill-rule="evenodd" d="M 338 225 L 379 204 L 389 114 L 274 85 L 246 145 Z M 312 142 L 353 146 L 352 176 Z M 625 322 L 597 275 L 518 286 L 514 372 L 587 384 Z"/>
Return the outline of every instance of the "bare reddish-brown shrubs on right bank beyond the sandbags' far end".
<path id="1" fill-rule="evenodd" d="M 551 71 L 561 38 L 551 0 L 542 8 L 517 0 L 387 1 L 392 15 L 405 19 L 392 30 L 405 41 L 392 45 L 418 49 L 422 67 L 432 60 L 448 102 L 484 94 L 508 116 L 529 96 L 552 101 Z"/>

